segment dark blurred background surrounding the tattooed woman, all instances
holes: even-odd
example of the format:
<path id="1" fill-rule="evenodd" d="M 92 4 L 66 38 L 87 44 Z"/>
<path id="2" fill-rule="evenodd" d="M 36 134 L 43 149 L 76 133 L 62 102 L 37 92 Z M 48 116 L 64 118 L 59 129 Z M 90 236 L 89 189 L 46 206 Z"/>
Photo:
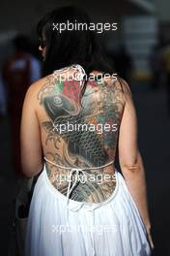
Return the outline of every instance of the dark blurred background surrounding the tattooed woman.
<path id="1" fill-rule="evenodd" d="M 48 11 L 77 4 L 94 22 L 116 22 L 99 34 L 115 71 L 128 80 L 138 115 L 154 255 L 170 255 L 170 2 L 168 0 L 1 1 L 0 8 L 0 255 L 13 230 L 19 124 L 29 85 L 41 78 L 36 25 Z M 113 248 L 114 249 L 114 248 Z"/>

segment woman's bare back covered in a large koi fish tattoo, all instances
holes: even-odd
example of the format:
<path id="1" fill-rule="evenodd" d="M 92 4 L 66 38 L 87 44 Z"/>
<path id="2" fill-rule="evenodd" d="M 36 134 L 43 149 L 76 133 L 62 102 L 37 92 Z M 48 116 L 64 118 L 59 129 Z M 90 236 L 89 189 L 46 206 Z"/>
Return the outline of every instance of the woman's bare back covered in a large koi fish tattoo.
<path id="1" fill-rule="evenodd" d="M 73 68 L 54 72 L 37 90 L 43 155 L 63 167 L 101 167 L 115 158 L 125 99 L 118 81 L 111 78 L 94 80 L 95 75 L 99 78 L 99 72 L 90 74 L 91 79 L 81 98 L 77 74 Z M 51 183 L 66 195 L 68 170 L 49 162 L 46 164 Z M 115 187 L 114 165 L 87 172 L 88 177 L 81 177 L 71 199 L 106 200 Z M 86 182 L 82 182 L 83 178 Z"/>

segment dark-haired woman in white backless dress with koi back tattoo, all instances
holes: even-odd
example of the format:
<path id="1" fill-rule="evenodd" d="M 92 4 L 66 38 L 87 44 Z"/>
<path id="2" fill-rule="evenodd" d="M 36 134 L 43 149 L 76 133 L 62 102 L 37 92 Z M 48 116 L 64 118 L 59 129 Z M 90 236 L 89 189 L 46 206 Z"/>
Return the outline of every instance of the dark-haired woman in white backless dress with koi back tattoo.
<path id="1" fill-rule="evenodd" d="M 144 167 L 128 84 L 105 76 L 113 72 L 95 32 L 55 29 L 68 20 L 90 25 L 74 7 L 39 22 L 44 78 L 30 86 L 23 105 L 22 169 L 25 176 L 40 175 L 25 255 L 150 255 Z M 124 177 L 113 164 L 118 151 Z"/>

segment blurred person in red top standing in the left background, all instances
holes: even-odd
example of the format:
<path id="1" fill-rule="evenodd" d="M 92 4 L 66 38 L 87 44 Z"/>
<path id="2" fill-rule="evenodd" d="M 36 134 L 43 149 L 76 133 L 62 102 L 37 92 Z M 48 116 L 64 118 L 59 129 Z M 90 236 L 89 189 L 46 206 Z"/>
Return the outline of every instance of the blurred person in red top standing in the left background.
<path id="1" fill-rule="evenodd" d="M 19 129 L 25 93 L 32 82 L 41 78 L 41 64 L 30 53 L 25 36 L 14 38 L 14 55 L 3 66 L 3 80 L 7 90 L 8 111 L 11 118 L 14 172 L 21 173 Z"/>

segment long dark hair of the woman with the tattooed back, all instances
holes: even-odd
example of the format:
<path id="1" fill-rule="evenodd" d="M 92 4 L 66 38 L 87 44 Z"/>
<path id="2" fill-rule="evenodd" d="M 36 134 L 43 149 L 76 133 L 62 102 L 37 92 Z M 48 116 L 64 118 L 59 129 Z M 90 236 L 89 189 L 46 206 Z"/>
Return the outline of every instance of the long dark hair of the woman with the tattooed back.
<path id="1" fill-rule="evenodd" d="M 92 30 L 65 30 L 60 33 L 53 30 L 57 23 L 90 23 L 89 16 L 74 6 L 60 7 L 42 17 L 37 26 L 42 47 L 46 47 L 43 61 L 43 76 L 54 70 L 70 66 L 81 65 L 88 75 L 93 70 L 112 72 L 108 60 L 101 52 L 98 39 Z"/>

